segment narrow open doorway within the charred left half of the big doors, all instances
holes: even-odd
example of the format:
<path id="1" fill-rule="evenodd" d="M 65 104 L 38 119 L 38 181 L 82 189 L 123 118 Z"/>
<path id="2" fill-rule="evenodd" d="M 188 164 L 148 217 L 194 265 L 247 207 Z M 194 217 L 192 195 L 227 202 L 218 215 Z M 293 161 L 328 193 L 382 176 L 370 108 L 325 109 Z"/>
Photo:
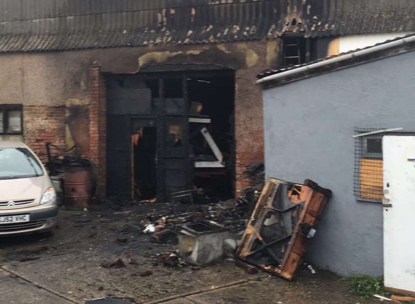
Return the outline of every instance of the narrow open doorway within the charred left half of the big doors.
<path id="1" fill-rule="evenodd" d="M 157 128 L 152 119 L 133 119 L 131 134 L 131 199 L 157 197 Z"/>

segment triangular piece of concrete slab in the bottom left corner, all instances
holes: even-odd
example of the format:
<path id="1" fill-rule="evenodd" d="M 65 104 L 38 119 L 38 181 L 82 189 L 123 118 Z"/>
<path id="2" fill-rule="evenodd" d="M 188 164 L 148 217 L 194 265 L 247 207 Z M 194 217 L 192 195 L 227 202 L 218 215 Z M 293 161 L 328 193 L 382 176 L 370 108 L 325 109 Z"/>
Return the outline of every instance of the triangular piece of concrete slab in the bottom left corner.
<path id="1" fill-rule="evenodd" d="M 23 279 L 0 270 L 0 303 L 7 304 L 72 304 Z"/>

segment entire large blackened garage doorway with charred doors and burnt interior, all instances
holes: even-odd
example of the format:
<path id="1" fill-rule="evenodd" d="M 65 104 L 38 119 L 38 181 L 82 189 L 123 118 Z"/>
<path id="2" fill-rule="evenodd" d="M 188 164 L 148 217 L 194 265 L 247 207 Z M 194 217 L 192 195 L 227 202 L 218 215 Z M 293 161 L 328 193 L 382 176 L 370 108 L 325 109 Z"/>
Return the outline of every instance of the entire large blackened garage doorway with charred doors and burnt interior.
<path id="1" fill-rule="evenodd" d="M 109 196 L 169 202 L 202 188 L 209 200 L 233 197 L 233 71 L 111 74 L 106 84 Z"/>

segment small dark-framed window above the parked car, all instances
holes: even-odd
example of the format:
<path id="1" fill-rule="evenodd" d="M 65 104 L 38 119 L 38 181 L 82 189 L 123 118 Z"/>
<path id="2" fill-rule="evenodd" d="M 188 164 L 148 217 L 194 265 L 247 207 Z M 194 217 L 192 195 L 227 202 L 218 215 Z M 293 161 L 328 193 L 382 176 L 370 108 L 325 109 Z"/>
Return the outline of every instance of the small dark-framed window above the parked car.
<path id="1" fill-rule="evenodd" d="M 22 133 L 22 105 L 0 104 L 0 134 Z"/>

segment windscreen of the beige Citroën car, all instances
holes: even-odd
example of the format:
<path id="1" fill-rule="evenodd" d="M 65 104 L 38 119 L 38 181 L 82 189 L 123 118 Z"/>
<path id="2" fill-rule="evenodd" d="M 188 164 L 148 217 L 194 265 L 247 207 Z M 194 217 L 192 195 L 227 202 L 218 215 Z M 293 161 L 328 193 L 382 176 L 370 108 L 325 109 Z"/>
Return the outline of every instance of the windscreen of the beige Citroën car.
<path id="1" fill-rule="evenodd" d="M 0 148 L 0 179 L 39 177 L 43 170 L 26 148 Z"/>

